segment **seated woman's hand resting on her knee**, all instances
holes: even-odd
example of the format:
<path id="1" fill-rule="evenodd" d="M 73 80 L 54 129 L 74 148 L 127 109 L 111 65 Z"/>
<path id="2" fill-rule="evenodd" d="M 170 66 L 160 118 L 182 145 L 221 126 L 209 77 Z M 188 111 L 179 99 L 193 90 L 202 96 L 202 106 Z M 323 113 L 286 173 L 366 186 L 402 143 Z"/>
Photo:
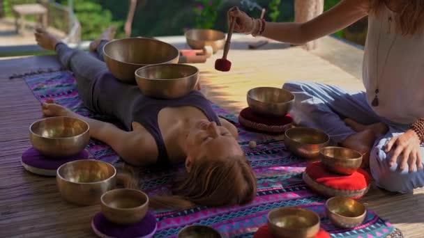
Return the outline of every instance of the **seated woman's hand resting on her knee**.
<path id="1" fill-rule="evenodd" d="M 400 161 L 398 161 L 400 170 L 404 170 L 407 165 L 409 167 L 409 173 L 414 172 L 414 168 L 421 170 L 423 164 L 421 160 L 420 144 L 420 138 L 411 129 L 400 136 L 391 138 L 386 144 L 385 152 L 387 153 L 392 149 L 395 150 L 395 152 L 393 152 L 393 156 L 388 163 L 390 166 L 393 166 L 396 163 L 396 159 L 402 154 Z"/>

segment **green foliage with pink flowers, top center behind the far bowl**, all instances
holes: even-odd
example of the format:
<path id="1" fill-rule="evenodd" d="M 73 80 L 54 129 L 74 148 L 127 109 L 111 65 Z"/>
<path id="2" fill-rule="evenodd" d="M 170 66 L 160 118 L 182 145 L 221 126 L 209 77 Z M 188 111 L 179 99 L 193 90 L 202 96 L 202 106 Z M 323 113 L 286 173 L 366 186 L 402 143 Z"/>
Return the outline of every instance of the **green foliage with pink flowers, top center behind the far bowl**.
<path id="1" fill-rule="evenodd" d="M 218 18 L 217 9 L 222 0 L 196 0 L 197 6 L 193 8 L 195 13 L 195 27 L 198 29 L 212 29 Z"/>

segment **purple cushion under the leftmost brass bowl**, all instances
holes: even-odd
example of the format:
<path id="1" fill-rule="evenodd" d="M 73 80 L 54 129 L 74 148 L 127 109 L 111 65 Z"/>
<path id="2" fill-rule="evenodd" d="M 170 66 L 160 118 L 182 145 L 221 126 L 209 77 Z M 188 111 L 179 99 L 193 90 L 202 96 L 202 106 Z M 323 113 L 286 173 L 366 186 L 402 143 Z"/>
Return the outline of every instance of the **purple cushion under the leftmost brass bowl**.
<path id="1" fill-rule="evenodd" d="M 22 164 L 28 170 L 27 166 L 31 166 L 32 168 L 40 169 L 40 170 L 51 170 L 56 171 L 62 164 L 66 164 L 70 161 L 75 161 L 77 159 L 88 159 L 89 152 L 83 150 L 77 155 L 66 158 L 49 158 L 40 154 L 36 149 L 29 148 L 22 154 Z M 25 166 L 27 165 L 27 166 Z M 36 173 L 34 170 L 30 170 L 32 173 Z M 46 175 L 45 173 L 41 173 L 41 175 Z M 56 173 L 54 173 L 56 175 Z"/>

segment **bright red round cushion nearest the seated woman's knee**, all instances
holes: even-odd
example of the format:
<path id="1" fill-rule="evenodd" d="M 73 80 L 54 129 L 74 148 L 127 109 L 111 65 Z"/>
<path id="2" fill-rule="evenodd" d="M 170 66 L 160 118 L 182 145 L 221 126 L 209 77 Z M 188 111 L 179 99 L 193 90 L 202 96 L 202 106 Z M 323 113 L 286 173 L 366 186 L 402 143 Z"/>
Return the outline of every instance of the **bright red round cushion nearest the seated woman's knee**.
<path id="1" fill-rule="evenodd" d="M 306 166 L 303 180 L 324 196 L 361 198 L 370 188 L 371 177 L 361 168 L 351 175 L 337 175 L 328 172 L 321 162 L 315 162 Z"/>

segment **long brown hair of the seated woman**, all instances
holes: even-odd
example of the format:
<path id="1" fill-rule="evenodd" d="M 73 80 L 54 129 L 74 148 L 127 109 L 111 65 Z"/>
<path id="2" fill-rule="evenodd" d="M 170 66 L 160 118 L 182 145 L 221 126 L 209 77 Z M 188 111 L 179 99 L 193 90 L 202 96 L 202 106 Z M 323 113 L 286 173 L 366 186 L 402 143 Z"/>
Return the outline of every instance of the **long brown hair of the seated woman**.
<path id="1" fill-rule="evenodd" d="M 399 0 L 370 0 L 370 13 L 378 14 L 385 5 L 390 8 L 392 2 Z M 424 0 L 406 0 L 398 9 L 395 16 L 396 31 L 402 35 L 414 35 L 424 29 Z"/>

